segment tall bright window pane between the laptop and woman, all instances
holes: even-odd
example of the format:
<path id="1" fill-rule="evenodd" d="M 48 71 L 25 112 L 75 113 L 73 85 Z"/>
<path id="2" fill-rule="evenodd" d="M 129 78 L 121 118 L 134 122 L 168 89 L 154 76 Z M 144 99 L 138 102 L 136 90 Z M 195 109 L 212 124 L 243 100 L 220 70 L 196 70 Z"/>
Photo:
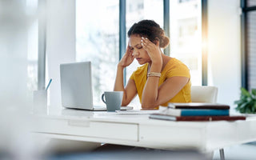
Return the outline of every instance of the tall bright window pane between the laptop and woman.
<path id="1" fill-rule="evenodd" d="M 92 64 L 94 104 L 113 90 L 119 47 L 119 1 L 76 1 L 76 61 Z"/>

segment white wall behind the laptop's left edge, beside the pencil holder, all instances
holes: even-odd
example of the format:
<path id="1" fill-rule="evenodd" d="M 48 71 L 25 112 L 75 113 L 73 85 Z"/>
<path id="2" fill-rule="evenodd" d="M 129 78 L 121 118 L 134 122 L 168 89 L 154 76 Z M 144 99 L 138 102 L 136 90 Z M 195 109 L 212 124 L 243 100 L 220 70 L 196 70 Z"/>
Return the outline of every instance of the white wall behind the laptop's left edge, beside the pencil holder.
<path id="1" fill-rule="evenodd" d="M 48 76 L 53 78 L 50 107 L 60 107 L 59 65 L 75 61 L 75 1 L 47 0 L 46 3 L 46 61 Z"/>

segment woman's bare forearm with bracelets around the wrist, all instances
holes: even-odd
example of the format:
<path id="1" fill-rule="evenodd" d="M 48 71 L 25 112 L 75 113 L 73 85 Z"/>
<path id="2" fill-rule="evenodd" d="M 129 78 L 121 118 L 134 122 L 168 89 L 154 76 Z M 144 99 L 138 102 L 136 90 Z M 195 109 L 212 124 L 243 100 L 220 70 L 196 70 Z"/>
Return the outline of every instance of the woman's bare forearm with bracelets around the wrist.
<path id="1" fill-rule="evenodd" d="M 162 63 L 152 63 L 150 72 L 160 73 Z M 159 77 L 148 77 L 142 93 L 142 108 L 154 109 L 158 106 Z"/>

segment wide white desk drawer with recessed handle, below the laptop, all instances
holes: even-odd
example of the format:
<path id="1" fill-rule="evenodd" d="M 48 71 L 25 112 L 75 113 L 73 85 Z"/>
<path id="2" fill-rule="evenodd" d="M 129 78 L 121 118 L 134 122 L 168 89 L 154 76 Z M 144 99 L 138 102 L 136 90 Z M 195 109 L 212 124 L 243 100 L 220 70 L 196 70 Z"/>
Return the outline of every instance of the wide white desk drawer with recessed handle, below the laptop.
<path id="1" fill-rule="evenodd" d="M 42 118 L 35 132 L 68 134 L 91 138 L 110 138 L 138 141 L 138 125 L 117 122 L 94 122 L 88 120 L 67 120 Z"/>

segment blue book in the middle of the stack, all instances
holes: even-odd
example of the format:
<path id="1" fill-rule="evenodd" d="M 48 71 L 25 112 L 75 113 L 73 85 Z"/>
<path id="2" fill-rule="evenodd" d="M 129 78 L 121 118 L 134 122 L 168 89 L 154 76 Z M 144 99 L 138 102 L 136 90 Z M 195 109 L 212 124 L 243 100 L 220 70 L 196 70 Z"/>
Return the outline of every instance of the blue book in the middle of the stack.
<path id="1" fill-rule="evenodd" d="M 159 109 L 159 114 L 172 116 L 214 116 L 214 115 L 230 115 L 230 110 L 214 110 L 214 109 L 174 109 L 166 107 Z"/>

